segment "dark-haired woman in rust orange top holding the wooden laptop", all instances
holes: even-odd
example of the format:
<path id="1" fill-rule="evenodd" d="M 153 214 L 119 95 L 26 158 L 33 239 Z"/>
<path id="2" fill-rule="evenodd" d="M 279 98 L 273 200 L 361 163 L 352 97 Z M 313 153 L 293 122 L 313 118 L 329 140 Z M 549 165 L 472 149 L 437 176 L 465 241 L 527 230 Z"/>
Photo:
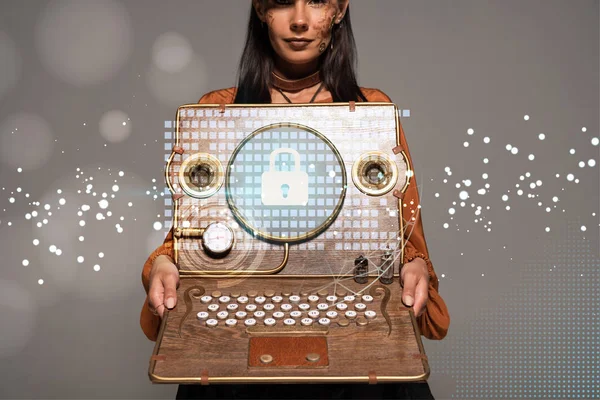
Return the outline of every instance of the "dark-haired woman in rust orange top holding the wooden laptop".
<path id="1" fill-rule="evenodd" d="M 237 88 L 204 95 L 200 103 L 311 103 L 383 101 L 390 99 L 376 89 L 359 88 L 355 71 L 355 43 L 350 24 L 349 0 L 253 0 L 246 46 Z M 401 142 L 408 146 L 401 130 Z M 414 178 L 413 178 L 414 179 Z M 416 180 L 404 202 L 419 204 Z M 450 323 L 448 310 L 438 293 L 438 280 L 428 257 L 420 213 L 403 209 L 403 217 L 414 221 L 406 243 L 400 277 L 402 301 L 414 308 L 421 333 L 440 340 Z M 142 308 L 141 325 L 150 340 L 156 340 L 165 307 L 176 303 L 179 275 L 173 262 L 173 236 L 146 261 L 142 281 L 148 296 Z M 426 383 L 394 385 L 181 385 L 178 398 L 433 398 Z"/>

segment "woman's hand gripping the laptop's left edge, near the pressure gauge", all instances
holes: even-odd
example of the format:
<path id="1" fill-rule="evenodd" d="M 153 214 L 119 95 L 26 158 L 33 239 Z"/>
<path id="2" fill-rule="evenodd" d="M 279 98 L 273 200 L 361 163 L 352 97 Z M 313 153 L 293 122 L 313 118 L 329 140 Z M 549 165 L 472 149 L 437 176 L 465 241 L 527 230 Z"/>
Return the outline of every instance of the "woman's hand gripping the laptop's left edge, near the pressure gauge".
<path id="1" fill-rule="evenodd" d="M 150 289 L 148 290 L 148 308 L 154 315 L 163 317 L 165 307 L 173 309 L 177 304 L 179 271 L 169 256 L 158 256 L 150 271 Z"/>

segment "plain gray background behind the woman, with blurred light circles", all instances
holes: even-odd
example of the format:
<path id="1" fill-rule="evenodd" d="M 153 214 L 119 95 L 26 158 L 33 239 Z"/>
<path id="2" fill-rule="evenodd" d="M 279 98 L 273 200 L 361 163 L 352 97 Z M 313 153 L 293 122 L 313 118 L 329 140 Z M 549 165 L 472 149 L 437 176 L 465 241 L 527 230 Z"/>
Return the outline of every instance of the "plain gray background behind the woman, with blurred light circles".
<path id="1" fill-rule="evenodd" d="M 138 324 L 142 264 L 165 232 L 154 227 L 165 220 L 164 121 L 234 85 L 249 3 L 0 2 L 0 396 L 174 398 L 148 380 L 153 343 Z M 425 340 L 434 395 L 598 397 L 598 0 L 351 8 L 359 83 L 410 110 L 452 320 L 443 341 Z M 168 32 L 189 47 L 174 49 Z"/>

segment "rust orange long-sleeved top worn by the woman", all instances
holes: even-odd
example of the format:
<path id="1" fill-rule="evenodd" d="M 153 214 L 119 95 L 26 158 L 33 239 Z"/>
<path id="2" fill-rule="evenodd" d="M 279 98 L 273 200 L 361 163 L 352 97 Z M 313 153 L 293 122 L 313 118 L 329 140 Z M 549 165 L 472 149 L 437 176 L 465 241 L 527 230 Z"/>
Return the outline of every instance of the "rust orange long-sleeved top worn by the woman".
<path id="1" fill-rule="evenodd" d="M 377 89 L 366 89 L 361 88 L 363 94 L 370 102 L 391 102 L 390 98 L 380 90 Z M 200 99 L 201 104 L 232 104 L 235 98 L 235 88 L 216 90 L 205 94 Z M 329 99 L 321 100 L 321 102 L 332 102 L 331 97 Z M 406 138 L 404 136 L 404 130 L 400 126 L 400 144 L 405 150 L 410 165 L 414 166 L 412 158 L 410 156 Z M 421 213 L 417 209 L 419 202 L 419 192 L 417 190 L 416 175 L 412 176 L 410 185 L 406 190 L 403 199 L 406 207 L 402 208 L 402 214 L 405 221 L 410 221 L 414 214 L 417 215 L 414 221 L 414 226 L 410 238 L 406 241 L 404 248 L 404 263 L 412 261 L 413 259 L 420 257 L 427 263 L 427 269 L 429 271 L 429 301 L 427 302 L 426 310 L 423 314 L 417 318 L 417 323 L 421 334 L 428 339 L 440 340 L 443 339 L 448 333 L 448 326 L 450 325 L 450 316 L 448 314 L 448 308 L 446 303 L 438 292 L 438 278 L 433 270 L 433 265 L 429 260 L 429 251 L 427 250 L 427 243 L 425 242 L 425 235 L 423 233 L 423 224 L 421 221 Z M 411 213 L 414 210 L 414 214 Z M 142 271 L 142 282 L 146 293 L 148 293 L 150 286 L 150 270 L 154 260 L 160 255 L 169 255 L 174 258 L 173 255 L 173 230 L 169 231 L 164 243 L 159 246 L 144 264 Z M 148 298 L 142 307 L 140 316 L 140 324 L 142 330 L 148 337 L 148 339 L 155 341 L 158 336 L 160 327 L 160 317 L 153 315 L 148 308 Z"/>

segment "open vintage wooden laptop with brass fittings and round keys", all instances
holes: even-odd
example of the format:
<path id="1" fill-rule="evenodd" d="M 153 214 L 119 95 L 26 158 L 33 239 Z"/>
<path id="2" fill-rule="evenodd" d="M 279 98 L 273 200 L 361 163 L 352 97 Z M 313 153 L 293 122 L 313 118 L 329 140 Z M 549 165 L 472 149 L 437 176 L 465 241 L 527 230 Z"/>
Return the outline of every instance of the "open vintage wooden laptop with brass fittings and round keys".
<path id="1" fill-rule="evenodd" d="M 178 109 L 165 178 L 181 280 L 153 382 L 428 378 L 400 300 L 400 129 L 391 103 Z"/>

